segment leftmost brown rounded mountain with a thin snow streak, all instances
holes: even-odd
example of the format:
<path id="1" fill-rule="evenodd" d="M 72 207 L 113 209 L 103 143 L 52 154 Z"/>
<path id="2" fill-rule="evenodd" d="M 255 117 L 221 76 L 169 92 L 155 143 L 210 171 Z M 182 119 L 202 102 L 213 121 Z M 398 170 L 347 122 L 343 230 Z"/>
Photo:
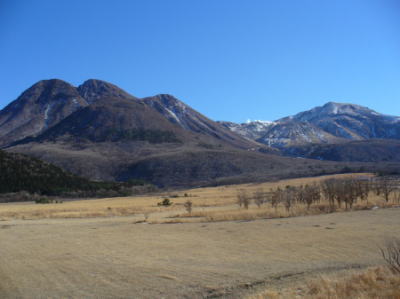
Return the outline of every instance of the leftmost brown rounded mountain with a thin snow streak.
<path id="1" fill-rule="evenodd" d="M 88 102 L 62 80 L 43 80 L 0 111 L 0 147 L 51 128 Z"/>

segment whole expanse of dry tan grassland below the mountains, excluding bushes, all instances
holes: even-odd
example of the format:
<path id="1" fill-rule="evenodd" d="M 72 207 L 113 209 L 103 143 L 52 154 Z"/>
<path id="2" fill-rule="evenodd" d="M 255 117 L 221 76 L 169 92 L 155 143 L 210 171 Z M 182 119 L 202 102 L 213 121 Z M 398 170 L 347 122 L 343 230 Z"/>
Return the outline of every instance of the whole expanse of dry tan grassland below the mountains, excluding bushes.
<path id="1" fill-rule="evenodd" d="M 323 298 L 326 289 L 312 285 L 321 285 L 320 275 L 325 285 L 337 285 L 331 275 L 384 263 L 379 246 L 398 236 L 400 209 L 369 209 L 386 205 L 371 195 L 368 204 L 358 203 L 358 211 L 300 216 L 307 213 L 299 206 L 285 215 L 283 207 L 275 211 L 268 204 L 239 208 L 236 195 L 243 188 L 252 192 L 325 178 L 1 204 L 0 297 L 288 298 L 310 297 L 314 290 L 315 298 Z M 167 196 L 174 204 L 158 206 Z M 190 217 L 183 206 L 188 199 Z M 285 216 L 299 217 L 280 218 Z"/>

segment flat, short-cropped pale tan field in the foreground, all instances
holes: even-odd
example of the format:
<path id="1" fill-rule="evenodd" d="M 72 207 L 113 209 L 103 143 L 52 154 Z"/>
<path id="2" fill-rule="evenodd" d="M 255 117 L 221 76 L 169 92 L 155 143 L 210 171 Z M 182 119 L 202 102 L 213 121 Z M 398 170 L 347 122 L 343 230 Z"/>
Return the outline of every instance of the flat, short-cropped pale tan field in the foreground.
<path id="1" fill-rule="evenodd" d="M 388 208 L 169 225 L 137 223 L 143 215 L 5 220 L 0 297 L 243 298 L 268 289 L 292 298 L 280 290 L 299 286 L 307 298 L 318 275 L 382 265 L 378 246 L 398 236 L 399 216 Z"/>

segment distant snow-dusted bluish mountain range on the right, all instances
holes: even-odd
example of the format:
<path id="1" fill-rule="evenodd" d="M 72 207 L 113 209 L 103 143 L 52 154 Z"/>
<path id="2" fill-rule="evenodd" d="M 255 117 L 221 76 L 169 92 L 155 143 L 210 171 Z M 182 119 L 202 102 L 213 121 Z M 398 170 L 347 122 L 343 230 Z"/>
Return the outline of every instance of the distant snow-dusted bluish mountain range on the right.
<path id="1" fill-rule="evenodd" d="M 263 123 L 266 125 L 261 126 Z M 309 143 L 400 139 L 400 117 L 380 114 L 359 105 L 335 102 L 274 122 L 222 124 L 243 137 L 280 149 Z"/>

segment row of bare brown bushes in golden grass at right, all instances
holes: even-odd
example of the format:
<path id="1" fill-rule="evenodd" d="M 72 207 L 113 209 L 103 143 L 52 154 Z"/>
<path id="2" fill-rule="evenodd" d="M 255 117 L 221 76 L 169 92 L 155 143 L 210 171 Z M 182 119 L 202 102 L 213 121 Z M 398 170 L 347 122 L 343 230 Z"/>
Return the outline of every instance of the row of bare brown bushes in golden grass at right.
<path id="1" fill-rule="evenodd" d="M 400 181 L 395 177 L 348 176 L 275 188 L 240 188 L 234 201 L 239 209 L 197 209 L 178 214 L 175 222 L 253 220 L 317 215 L 347 210 L 400 205 Z M 186 219 L 182 219 L 186 218 Z"/>

